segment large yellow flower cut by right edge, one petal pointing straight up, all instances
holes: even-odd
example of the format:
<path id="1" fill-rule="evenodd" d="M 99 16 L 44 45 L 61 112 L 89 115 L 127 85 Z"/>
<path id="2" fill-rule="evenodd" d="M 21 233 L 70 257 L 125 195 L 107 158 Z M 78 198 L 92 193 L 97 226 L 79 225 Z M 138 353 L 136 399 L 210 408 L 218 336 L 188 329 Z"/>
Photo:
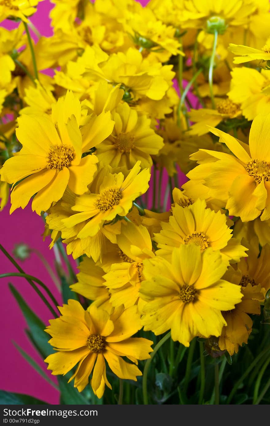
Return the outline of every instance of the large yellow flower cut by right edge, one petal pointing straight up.
<path id="1" fill-rule="evenodd" d="M 243 222 L 270 219 L 270 114 L 258 115 L 250 129 L 249 145 L 221 130 L 210 128 L 233 155 L 199 150 L 192 155 L 199 165 L 187 176 L 202 181 L 209 196 L 224 203 L 230 216 Z M 183 185 L 185 188 L 185 185 Z"/>

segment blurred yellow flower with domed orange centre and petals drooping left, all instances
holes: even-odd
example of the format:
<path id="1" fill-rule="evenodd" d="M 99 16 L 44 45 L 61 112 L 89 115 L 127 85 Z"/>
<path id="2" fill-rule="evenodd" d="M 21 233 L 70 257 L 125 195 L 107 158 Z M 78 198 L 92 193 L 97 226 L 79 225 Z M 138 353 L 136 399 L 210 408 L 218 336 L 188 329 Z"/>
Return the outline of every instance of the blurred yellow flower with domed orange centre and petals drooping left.
<path id="1" fill-rule="evenodd" d="M 195 123 L 192 124 L 189 135 L 204 135 L 209 132 L 208 127 L 217 127 L 221 121 L 228 118 L 236 118 L 241 115 L 239 104 L 235 104 L 229 98 L 221 99 L 216 102 L 216 109 L 191 109 L 189 112 L 190 120 Z"/>

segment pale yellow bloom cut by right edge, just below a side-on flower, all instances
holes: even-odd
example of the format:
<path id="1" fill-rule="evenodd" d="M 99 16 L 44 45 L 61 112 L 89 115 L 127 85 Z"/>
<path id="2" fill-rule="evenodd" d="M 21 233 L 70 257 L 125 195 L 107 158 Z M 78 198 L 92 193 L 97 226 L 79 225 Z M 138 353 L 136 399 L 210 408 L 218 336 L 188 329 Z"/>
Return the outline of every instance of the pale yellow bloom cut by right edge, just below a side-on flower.
<path id="1" fill-rule="evenodd" d="M 270 112 L 270 75 L 245 66 L 232 70 L 229 99 L 241 105 L 243 115 L 253 120 L 258 114 Z"/>

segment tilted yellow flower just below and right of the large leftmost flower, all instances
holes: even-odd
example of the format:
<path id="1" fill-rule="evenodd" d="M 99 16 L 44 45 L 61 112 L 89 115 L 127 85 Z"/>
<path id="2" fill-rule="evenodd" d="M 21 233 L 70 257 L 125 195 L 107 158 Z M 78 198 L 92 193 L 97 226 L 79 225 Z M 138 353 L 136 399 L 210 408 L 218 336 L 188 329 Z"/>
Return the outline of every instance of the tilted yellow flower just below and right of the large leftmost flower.
<path id="1" fill-rule="evenodd" d="M 103 181 L 99 181 L 99 193 L 78 197 L 72 210 L 80 213 L 64 219 L 64 225 L 73 227 L 87 221 L 78 233 L 78 238 L 86 238 L 96 235 L 103 224 L 117 215 L 125 216 L 131 210 L 133 201 L 149 187 L 150 172 L 148 169 L 140 172 L 139 164 L 140 161 L 137 161 L 126 178 L 122 172 L 110 173 L 105 170 Z"/>

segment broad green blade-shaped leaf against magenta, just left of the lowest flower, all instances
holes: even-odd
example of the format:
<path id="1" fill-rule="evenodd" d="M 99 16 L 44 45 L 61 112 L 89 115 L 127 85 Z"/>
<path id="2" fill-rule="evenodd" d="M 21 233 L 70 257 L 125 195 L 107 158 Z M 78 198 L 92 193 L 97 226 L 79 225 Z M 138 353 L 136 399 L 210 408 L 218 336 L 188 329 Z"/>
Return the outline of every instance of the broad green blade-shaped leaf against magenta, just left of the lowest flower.
<path id="1" fill-rule="evenodd" d="M 29 308 L 26 302 L 23 300 L 20 293 L 16 290 L 16 288 L 9 284 L 9 288 L 17 300 L 18 305 L 20 306 L 21 311 L 23 312 L 23 316 L 27 322 L 29 330 L 31 332 L 31 336 L 33 341 L 35 342 L 36 347 L 38 348 L 41 356 L 47 357 L 49 354 L 53 353 L 52 346 L 48 343 L 49 336 L 45 333 L 44 323 L 38 318 L 38 316 Z"/>

